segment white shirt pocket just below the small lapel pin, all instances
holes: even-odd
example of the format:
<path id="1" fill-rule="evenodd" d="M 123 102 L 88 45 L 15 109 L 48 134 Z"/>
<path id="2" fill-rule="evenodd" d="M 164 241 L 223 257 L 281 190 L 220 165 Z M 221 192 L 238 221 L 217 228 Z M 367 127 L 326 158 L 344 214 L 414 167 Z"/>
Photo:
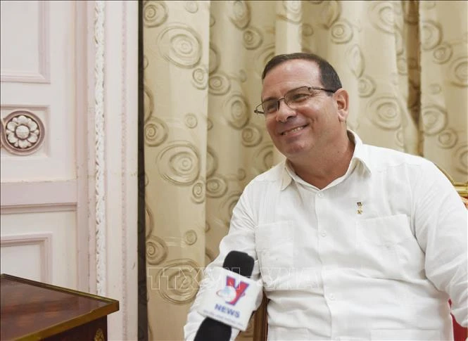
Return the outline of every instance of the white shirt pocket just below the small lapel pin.
<path id="1" fill-rule="evenodd" d="M 355 224 L 356 248 L 361 270 L 372 277 L 400 279 L 408 252 L 421 254 L 406 214 L 359 219 Z M 413 255 L 414 254 L 414 255 Z M 417 259 L 412 259 L 412 262 Z M 410 263 L 409 263 L 410 264 Z"/>

